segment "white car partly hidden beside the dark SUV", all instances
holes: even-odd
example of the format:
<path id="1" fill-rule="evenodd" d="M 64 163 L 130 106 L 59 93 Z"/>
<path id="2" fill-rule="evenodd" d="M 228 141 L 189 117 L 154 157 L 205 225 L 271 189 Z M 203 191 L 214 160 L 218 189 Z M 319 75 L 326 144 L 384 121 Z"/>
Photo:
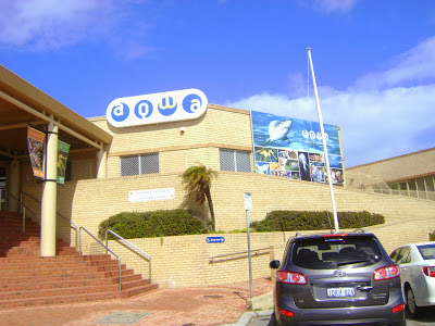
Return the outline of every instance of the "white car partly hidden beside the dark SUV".
<path id="1" fill-rule="evenodd" d="M 435 305 L 435 242 L 397 248 L 389 258 L 400 266 L 403 298 L 411 316 L 421 306 Z"/>

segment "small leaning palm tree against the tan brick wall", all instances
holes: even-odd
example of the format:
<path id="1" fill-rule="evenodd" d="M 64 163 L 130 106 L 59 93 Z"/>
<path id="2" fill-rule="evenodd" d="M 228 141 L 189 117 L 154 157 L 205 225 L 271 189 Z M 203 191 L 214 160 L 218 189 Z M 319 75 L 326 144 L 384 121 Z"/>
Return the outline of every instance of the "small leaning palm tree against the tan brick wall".
<path id="1" fill-rule="evenodd" d="M 206 165 L 194 165 L 188 167 L 182 175 L 183 184 L 186 184 L 185 190 L 187 196 L 195 197 L 195 201 L 203 204 L 206 199 L 210 209 L 212 230 L 215 230 L 216 223 L 214 220 L 213 202 L 211 200 L 211 181 L 217 177 L 217 172 L 207 168 Z"/>

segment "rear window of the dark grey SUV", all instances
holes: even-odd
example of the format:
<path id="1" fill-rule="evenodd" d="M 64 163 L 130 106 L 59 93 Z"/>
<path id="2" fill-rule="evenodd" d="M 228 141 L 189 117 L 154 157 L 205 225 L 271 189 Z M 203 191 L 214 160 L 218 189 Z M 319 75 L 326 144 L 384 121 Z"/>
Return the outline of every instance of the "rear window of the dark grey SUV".
<path id="1" fill-rule="evenodd" d="M 369 266 L 382 260 L 382 251 L 373 237 L 319 237 L 297 240 L 291 262 L 300 267 L 326 269 L 339 266 Z"/>

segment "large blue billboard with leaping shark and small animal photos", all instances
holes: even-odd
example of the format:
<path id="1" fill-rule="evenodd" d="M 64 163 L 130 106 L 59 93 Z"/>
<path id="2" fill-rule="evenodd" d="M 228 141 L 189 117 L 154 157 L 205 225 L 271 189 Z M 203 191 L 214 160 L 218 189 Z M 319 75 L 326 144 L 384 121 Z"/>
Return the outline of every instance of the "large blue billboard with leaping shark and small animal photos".
<path id="1" fill-rule="evenodd" d="M 251 111 L 256 172 L 327 183 L 320 124 Z M 343 184 L 338 127 L 324 124 L 332 180 Z"/>

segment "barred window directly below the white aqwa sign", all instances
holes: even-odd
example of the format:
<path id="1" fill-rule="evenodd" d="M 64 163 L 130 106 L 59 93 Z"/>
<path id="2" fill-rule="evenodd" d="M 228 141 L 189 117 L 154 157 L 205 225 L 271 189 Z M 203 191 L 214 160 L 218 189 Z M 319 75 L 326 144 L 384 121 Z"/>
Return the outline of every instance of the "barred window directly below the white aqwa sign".
<path id="1" fill-rule="evenodd" d="M 159 153 L 121 156 L 121 176 L 159 173 Z"/>

